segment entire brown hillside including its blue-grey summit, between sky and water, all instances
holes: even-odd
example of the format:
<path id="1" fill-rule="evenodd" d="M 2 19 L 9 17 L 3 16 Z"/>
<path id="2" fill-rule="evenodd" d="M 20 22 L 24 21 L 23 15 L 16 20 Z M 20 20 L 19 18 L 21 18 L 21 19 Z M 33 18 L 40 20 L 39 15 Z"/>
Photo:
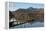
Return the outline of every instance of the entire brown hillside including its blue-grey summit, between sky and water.
<path id="1" fill-rule="evenodd" d="M 12 11 L 13 15 L 16 17 L 17 21 L 31 21 L 32 19 L 35 20 L 44 20 L 44 8 L 32 8 L 29 7 L 27 9 L 17 9 Z"/>

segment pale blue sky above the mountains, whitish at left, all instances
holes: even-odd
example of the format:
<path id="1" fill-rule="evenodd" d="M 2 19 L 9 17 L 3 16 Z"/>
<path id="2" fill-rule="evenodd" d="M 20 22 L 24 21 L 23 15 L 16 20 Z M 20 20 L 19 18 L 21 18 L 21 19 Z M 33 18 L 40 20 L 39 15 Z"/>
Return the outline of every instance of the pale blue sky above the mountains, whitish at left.
<path id="1" fill-rule="evenodd" d="M 27 9 L 29 7 L 33 8 L 44 8 L 44 4 L 39 4 L 39 3 L 19 3 L 19 2 L 9 2 L 9 10 L 10 11 L 15 11 L 19 8 L 24 8 Z"/>

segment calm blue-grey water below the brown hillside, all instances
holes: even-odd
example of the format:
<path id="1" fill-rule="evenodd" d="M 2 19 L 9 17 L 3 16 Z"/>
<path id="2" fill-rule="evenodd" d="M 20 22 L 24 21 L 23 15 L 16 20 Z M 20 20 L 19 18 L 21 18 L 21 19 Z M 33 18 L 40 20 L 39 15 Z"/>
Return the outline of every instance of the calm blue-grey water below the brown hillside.
<path id="1" fill-rule="evenodd" d="M 12 27 L 12 28 L 32 28 L 32 27 L 44 27 L 44 22 L 33 22 L 32 24 L 25 23 L 25 24 L 18 25 L 18 26 Z"/>

